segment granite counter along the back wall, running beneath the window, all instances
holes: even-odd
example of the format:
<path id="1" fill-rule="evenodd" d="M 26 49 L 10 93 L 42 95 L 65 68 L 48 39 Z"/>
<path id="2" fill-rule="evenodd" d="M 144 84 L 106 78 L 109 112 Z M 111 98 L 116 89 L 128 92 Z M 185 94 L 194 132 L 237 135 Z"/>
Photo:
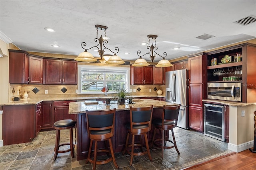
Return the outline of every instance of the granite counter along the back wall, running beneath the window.
<path id="1" fill-rule="evenodd" d="M 134 95 L 133 98 L 140 97 L 165 97 L 162 95 Z M 4 105 L 36 105 L 42 101 L 64 101 L 64 100 L 96 100 L 96 99 L 112 99 L 113 96 L 107 97 L 65 97 L 65 98 L 47 98 L 47 99 L 21 99 L 20 101 L 9 101 L 6 103 L 0 103 L 1 106 Z"/>

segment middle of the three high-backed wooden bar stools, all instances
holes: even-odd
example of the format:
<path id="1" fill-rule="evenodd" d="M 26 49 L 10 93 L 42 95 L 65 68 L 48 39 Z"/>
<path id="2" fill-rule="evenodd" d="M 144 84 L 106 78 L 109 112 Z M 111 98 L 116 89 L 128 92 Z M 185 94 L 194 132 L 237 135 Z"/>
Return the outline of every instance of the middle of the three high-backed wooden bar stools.
<path id="1" fill-rule="evenodd" d="M 148 136 L 147 132 L 151 130 L 151 121 L 152 121 L 152 113 L 153 113 L 153 105 L 150 107 L 130 107 L 130 123 L 125 127 L 127 129 L 127 138 L 125 143 L 125 148 L 123 150 L 123 154 L 127 152 L 131 154 L 130 166 L 132 166 L 133 156 L 141 156 L 144 154 L 148 154 L 149 159 L 152 161 L 152 157 L 150 155 L 150 150 L 148 146 Z M 130 134 L 132 134 L 132 144 L 128 145 Z M 140 135 L 140 143 L 134 143 L 135 135 Z M 145 151 L 142 151 L 142 140 L 141 136 L 144 135 L 144 140 L 146 144 Z M 134 146 L 140 146 L 141 152 L 134 153 Z M 131 152 L 128 150 L 128 147 L 132 147 Z"/>

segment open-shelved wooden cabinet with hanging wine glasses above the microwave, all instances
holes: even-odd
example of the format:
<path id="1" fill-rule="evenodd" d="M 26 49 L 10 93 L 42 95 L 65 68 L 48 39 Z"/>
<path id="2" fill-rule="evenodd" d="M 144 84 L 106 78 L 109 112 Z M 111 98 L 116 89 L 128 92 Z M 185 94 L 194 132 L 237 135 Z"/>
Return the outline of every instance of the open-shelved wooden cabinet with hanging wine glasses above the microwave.
<path id="1" fill-rule="evenodd" d="M 237 53 L 241 55 L 240 61 L 234 60 Z M 222 63 L 223 58 L 228 56 L 230 62 Z M 211 64 L 212 58 L 216 58 L 216 65 Z M 255 63 L 255 44 L 243 43 L 211 51 L 207 53 L 207 81 L 214 83 L 240 82 L 242 83 L 242 102 L 254 103 L 256 102 Z"/>

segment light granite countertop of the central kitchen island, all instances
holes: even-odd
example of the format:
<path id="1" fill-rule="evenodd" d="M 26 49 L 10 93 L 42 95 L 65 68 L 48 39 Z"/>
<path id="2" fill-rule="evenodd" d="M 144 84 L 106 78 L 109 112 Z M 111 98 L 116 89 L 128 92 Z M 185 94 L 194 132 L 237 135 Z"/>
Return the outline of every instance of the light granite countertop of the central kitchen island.
<path id="1" fill-rule="evenodd" d="M 176 105 L 173 103 L 158 101 L 154 99 L 141 99 L 134 101 L 134 104 L 118 105 L 117 101 L 110 101 L 110 105 L 105 105 L 103 102 L 98 102 L 98 104 L 85 104 L 83 101 L 71 102 L 69 103 L 69 114 L 79 114 L 85 113 L 86 110 L 106 110 L 106 109 L 116 109 L 116 111 L 130 110 L 130 107 L 149 107 L 153 105 L 154 108 L 163 107 L 164 105 Z"/>

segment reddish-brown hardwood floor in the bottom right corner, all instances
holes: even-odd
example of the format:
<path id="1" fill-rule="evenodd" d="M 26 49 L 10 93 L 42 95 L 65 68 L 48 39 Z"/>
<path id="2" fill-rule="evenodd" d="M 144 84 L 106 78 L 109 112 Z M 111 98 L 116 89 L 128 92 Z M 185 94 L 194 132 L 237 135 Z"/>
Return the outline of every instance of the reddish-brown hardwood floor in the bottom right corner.
<path id="1" fill-rule="evenodd" d="M 202 164 L 184 168 L 186 170 L 256 170 L 256 153 L 249 149 L 239 153 L 231 153 Z"/>

